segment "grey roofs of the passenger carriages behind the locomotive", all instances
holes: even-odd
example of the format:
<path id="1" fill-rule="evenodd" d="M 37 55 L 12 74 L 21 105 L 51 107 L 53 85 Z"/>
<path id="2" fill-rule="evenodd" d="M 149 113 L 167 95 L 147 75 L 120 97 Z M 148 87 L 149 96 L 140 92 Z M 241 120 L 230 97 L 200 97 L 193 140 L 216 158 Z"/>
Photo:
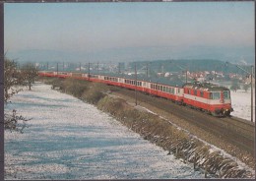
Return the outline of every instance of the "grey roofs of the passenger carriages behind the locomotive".
<path id="1" fill-rule="evenodd" d="M 94 73 L 92 73 L 94 74 Z M 118 78 L 124 78 L 124 79 L 132 79 L 135 80 L 135 75 L 126 75 L 126 74 L 117 74 L 117 73 L 100 73 L 102 76 L 109 76 L 109 77 L 118 77 Z M 151 82 L 155 84 L 160 85 L 166 85 L 171 87 L 178 87 L 182 88 L 185 83 L 182 81 L 172 81 L 169 78 L 147 78 L 145 75 L 138 74 L 137 75 L 137 81 L 145 81 L 145 82 Z"/>

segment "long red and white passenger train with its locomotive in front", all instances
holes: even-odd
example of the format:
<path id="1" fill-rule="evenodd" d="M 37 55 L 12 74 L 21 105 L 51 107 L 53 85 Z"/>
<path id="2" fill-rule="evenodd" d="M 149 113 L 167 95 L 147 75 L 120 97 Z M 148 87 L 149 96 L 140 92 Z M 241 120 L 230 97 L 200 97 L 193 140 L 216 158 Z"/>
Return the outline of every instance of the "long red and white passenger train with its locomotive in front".
<path id="1" fill-rule="evenodd" d="M 140 79 L 136 76 L 118 74 L 88 74 L 72 72 L 40 71 L 40 77 L 74 78 L 78 80 L 103 83 L 130 90 L 142 91 L 172 100 L 180 105 L 189 106 L 217 117 L 230 116 L 230 91 L 210 83 L 183 83 L 160 79 Z"/>

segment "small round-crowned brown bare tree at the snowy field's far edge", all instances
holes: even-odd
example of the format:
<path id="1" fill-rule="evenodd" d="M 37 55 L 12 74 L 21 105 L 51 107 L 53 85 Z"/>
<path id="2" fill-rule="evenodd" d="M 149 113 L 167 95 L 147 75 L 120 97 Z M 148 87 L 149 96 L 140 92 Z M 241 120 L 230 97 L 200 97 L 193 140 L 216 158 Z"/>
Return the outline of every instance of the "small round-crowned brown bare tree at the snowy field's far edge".
<path id="1" fill-rule="evenodd" d="M 23 66 L 22 76 L 25 79 L 25 83 L 29 86 L 30 91 L 32 90 L 32 83 L 34 83 L 34 78 L 38 75 L 38 70 L 32 63 L 28 63 Z"/>

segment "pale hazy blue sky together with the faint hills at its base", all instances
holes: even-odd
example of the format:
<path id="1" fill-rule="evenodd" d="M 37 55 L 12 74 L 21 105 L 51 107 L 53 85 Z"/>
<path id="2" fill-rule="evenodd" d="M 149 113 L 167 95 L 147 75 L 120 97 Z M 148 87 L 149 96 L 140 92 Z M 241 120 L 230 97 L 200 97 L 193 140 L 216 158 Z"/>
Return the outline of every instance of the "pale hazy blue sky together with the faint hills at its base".
<path id="1" fill-rule="evenodd" d="M 254 62 L 253 2 L 6 3 L 4 44 L 28 61 Z"/>

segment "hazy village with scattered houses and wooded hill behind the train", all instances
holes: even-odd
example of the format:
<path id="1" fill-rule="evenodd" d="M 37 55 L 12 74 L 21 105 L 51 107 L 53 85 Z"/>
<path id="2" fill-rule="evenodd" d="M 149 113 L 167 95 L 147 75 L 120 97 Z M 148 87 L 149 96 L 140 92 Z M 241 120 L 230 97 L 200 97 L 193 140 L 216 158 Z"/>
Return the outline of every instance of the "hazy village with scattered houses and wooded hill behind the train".
<path id="1" fill-rule="evenodd" d="M 22 65 L 23 63 L 21 63 Z M 18 66 L 19 66 L 18 62 Z M 250 90 L 252 65 L 244 60 L 230 63 L 219 60 L 156 60 L 119 63 L 69 63 L 69 62 L 39 62 L 34 63 L 40 71 L 50 72 L 82 72 L 104 73 L 132 76 L 135 74 L 147 79 L 165 79 L 170 82 L 209 82 L 224 86 L 231 91 Z M 253 68 L 254 70 L 254 68 Z M 254 75 L 254 73 L 253 73 Z M 255 78 L 252 78 L 255 87 Z"/>

